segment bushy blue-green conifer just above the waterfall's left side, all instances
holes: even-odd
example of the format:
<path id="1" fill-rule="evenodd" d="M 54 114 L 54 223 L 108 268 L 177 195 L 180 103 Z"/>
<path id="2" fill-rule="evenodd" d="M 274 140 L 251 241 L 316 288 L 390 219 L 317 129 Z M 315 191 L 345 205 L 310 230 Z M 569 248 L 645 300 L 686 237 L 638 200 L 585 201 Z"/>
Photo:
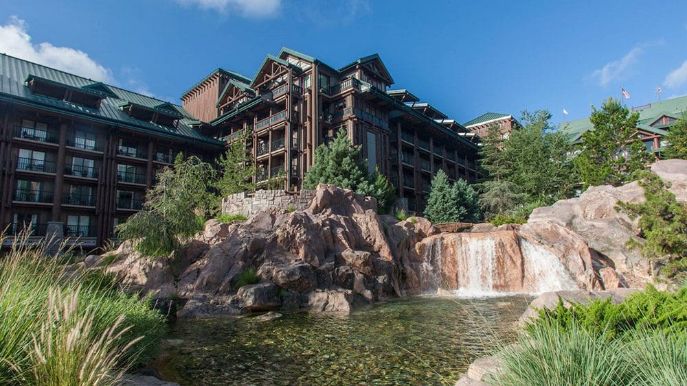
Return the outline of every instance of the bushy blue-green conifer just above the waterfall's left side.
<path id="1" fill-rule="evenodd" d="M 432 178 L 425 216 L 434 224 L 456 221 L 477 222 L 480 219 L 480 201 L 475 190 L 465 180 L 453 184 L 443 170 Z"/>

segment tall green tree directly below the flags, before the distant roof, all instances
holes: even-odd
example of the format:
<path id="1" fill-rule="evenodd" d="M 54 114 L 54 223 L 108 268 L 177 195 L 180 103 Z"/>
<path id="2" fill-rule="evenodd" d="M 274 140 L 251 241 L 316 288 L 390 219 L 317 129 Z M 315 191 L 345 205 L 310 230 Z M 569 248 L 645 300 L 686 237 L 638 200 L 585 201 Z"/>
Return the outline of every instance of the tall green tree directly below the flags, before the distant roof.
<path id="1" fill-rule="evenodd" d="M 639 112 L 630 111 L 620 101 L 609 98 L 600 110 L 592 106 L 589 120 L 594 130 L 582 135 L 582 151 L 574 159 L 585 186 L 618 186 L 632 180 L 632 174 L 651 162 L 641 138 L 633 136 Z"/>

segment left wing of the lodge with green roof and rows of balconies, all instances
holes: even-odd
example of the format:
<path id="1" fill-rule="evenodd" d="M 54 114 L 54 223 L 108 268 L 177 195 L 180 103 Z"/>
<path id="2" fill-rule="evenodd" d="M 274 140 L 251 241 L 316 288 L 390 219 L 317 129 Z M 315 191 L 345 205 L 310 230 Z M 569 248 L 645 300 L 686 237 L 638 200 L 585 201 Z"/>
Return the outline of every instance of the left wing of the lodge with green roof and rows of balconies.
<path id="1" fill-rule="evenodd" d="M 5 244 L 31 228 L 34 239 L 101 245 L 176 154 L 221 152 L 195 122 L 181 106 L 0 54 Z"/>

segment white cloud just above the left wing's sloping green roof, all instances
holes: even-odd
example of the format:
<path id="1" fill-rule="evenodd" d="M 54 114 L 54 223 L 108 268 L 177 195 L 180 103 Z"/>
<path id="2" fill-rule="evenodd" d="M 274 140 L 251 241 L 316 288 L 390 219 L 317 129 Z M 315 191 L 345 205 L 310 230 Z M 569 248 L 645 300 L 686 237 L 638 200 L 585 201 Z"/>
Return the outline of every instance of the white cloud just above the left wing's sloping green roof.
<path id="1" fill-rule="evenodd" d="M 114 82 L 112 71 L 95 62 L 84 51 L 47 42 L 34 45 L 27 29 L 26 22 L 16 16 L 12 16 L 7 24 L 0 25 L 0 52 L 100 82 Z"/>

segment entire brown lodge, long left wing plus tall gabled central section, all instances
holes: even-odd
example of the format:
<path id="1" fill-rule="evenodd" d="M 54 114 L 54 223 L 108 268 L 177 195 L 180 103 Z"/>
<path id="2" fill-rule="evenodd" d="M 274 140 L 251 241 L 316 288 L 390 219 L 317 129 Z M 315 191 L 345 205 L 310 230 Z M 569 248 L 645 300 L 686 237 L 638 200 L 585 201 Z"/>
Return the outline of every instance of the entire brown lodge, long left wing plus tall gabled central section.
<path id="1" fill-rule="evenodd" d="M 258 188 L 275 182 L 297 192 L 315 149 L 339 129 L 421 212 L 439 169 L 451 180 L 477 179 L 479 136 L 392 84 L 376 54 L 335 69 L 283 48 L 252 78 L 213 71 L 178 106 L 0 54 L 5 245 L 25 228 L 36 241 L 102 245 L 177 154 L 212 161 L 238 138 Z"/>

